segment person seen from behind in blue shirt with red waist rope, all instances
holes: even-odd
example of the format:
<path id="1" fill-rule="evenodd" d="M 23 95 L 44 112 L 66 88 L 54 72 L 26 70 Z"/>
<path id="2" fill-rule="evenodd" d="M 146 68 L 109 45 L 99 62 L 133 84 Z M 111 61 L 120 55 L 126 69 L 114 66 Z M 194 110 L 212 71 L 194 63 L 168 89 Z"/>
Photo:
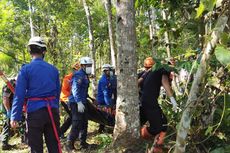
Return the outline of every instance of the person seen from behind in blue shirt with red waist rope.
<path id="1" fill-rule="evenodd" d="M 59 72 L 43 60 L 46 44 L 41 37 L 32 37 L 28 49 L 32 61 L 18 74 L 11 111 L 11 127 L 22 119 L 22 108 L 27 99 L 27 131 L 30 152 L 43 153 L 43 135 L 48 152 L 60 151 L 59 130 Z"/>

